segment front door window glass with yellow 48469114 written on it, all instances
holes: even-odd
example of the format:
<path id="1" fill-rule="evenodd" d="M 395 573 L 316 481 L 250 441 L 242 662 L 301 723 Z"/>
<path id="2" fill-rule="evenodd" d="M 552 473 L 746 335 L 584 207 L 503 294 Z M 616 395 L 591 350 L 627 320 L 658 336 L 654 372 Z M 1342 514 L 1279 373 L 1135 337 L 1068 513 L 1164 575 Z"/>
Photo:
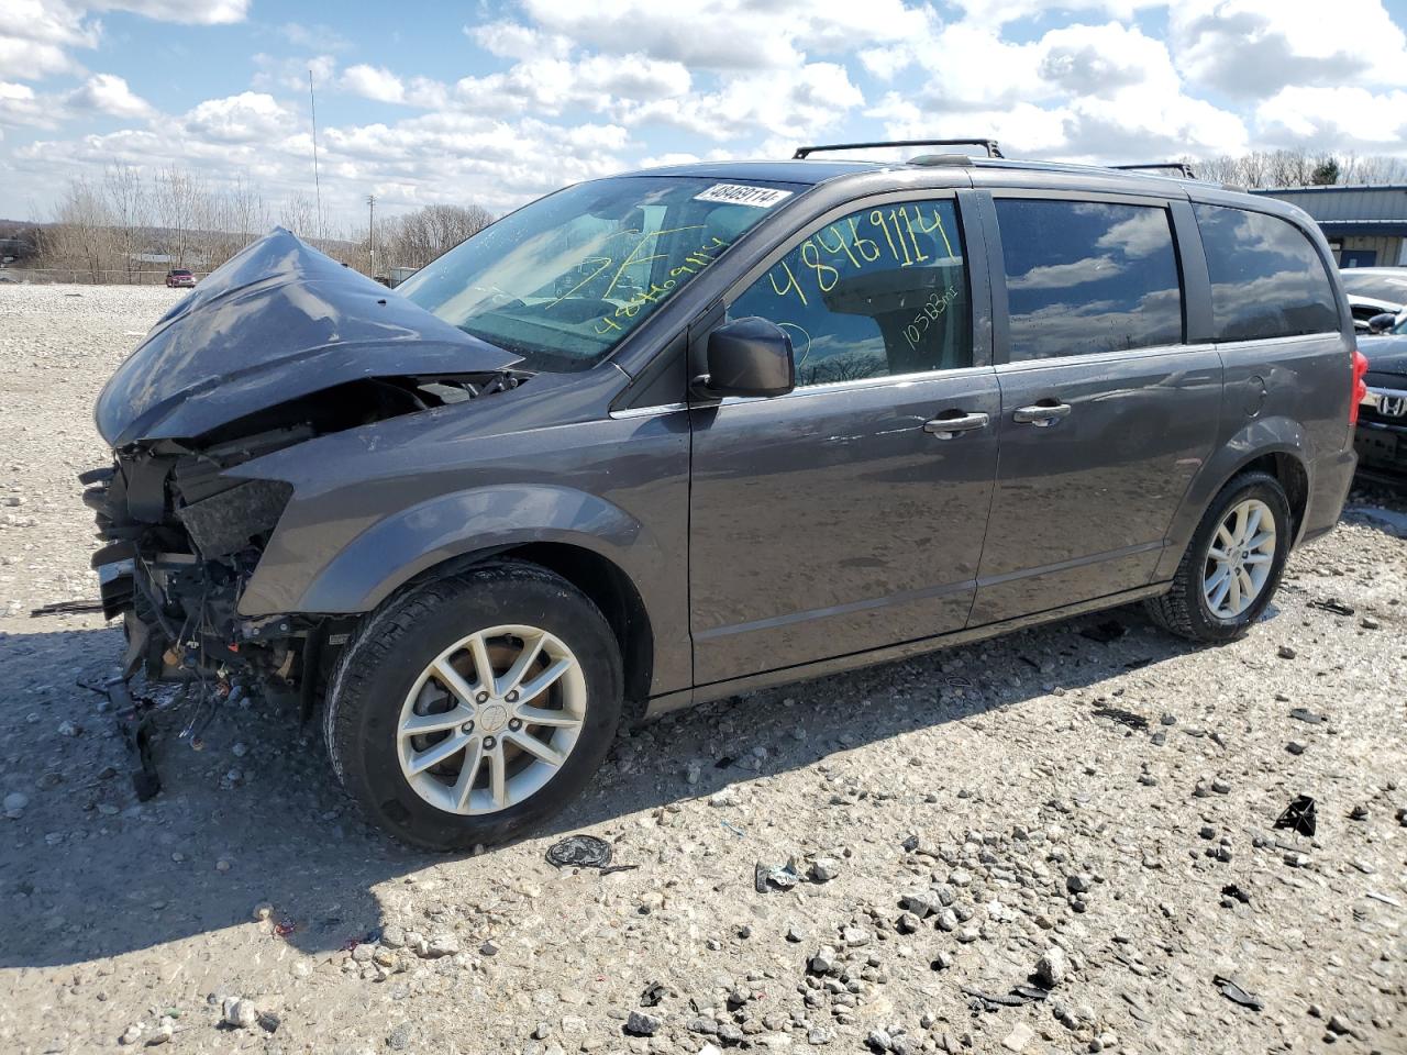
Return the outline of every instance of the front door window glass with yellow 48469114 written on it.
<path id="1" fill-rule="evenodd" d="M 972 366 L 972 307 L 954 203 L 896 203 L 826 224 L 727 314 L 757 315 L 787 331 L 798 387 Z"/>

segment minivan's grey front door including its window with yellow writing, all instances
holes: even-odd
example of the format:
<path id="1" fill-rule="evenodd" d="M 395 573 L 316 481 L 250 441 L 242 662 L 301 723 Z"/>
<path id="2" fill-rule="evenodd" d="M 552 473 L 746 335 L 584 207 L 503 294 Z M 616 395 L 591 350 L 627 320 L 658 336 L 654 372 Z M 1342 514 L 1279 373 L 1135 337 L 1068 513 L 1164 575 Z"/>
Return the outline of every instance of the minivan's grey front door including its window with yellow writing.
<path id="1" fill-rule="evenodd" d="M 888 198 L 794 238 L 729 301 L 792 338 L 796 388 L 691 409 L 696 685 L 967 623 L 1000 394 L 964 234 L 955 197 Z"/>

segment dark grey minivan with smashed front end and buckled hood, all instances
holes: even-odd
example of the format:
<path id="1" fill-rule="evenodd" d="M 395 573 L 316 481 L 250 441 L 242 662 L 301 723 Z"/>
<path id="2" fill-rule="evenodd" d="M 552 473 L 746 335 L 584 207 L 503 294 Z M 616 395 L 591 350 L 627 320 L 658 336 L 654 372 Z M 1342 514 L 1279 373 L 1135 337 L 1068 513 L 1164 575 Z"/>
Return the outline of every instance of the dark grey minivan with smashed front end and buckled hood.
<path id="1" fill-rule="evenodd" d="M 461 848 L 696 701 L 1134 601 L 1244 633 L 1354 473 L 1323 235 L 989 153 L 592 180 L 394 291 L 274 231 L 97 402 L 125 675 L 262 685 Z"/>

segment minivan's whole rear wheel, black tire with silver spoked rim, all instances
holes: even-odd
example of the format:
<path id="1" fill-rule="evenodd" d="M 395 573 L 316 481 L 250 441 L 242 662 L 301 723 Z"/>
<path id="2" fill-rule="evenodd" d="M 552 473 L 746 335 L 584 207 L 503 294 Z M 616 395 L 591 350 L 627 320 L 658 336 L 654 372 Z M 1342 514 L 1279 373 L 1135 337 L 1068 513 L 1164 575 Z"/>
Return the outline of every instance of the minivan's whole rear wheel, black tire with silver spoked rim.
<path id="1" fill-rule="evenodd" d="M 1269 473 L 1242 473 L 1213 499 L 1172 578 L 1147 602 L 1154 622 L 1195 641 L 1245 633 L 1275 596 L 1290 551 L 1290 504 Z"/>

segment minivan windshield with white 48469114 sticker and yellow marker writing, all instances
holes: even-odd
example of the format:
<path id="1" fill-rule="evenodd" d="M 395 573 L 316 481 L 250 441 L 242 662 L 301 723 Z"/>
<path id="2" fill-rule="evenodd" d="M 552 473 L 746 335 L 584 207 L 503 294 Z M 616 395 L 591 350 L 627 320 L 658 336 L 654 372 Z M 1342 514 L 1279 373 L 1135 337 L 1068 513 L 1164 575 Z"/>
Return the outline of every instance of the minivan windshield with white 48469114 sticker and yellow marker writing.
<path id="1" fill-rule="evenodd" d="M 484 228 L 397 293 L 529 370 L 582 370 L 796 190 L 678 176 L 580 183 Z"/>

